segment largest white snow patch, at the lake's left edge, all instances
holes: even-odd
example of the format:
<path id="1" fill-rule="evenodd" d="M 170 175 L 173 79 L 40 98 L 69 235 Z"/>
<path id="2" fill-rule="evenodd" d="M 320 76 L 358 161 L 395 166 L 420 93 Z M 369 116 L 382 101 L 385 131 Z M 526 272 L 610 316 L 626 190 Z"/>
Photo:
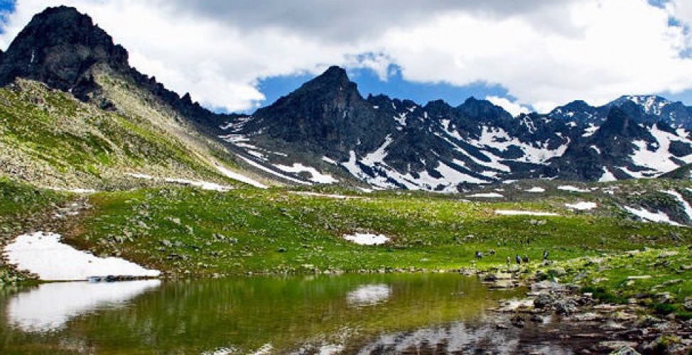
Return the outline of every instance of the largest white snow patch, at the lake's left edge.
<path id="1" fill-rule="evenodd" d="M 122 258 L 98 258 L 60 242 L 60 234 L 22 234 L 5 246 L 8 263 L 38 275 L 40 280 L 86 280 L 90 276 L 157 277 L 160 271 L 142 268 Z"/>

